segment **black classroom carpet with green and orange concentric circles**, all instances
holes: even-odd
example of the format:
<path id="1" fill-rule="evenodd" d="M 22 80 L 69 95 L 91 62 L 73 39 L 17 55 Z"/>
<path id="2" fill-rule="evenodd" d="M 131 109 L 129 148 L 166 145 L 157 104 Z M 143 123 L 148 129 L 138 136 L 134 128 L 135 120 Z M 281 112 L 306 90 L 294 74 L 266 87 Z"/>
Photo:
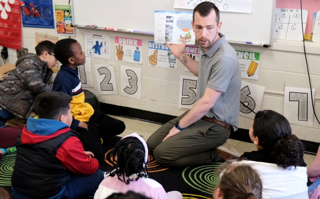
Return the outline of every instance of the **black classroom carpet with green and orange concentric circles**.
<path id="1" fill-rule="evenodd" d="M 101 164 L 102 171 L 112 168 L 112 151 L 121 137 L 108 138 L 102 146 L 105 149 L 105 164 Z M 16 153 L 3 156 L 0 160 L 0 186 L 11 193 L 11 175 L 14 170 Z M 219 175 L 230 162 L 211 163 L 186 167 L 160 166 L 150 155 L 148 165 L 149 178 L 161 183 L 168 191 L 179 191 L 184 199 L 212 199 L 213 191 L 218 185 Z"/>

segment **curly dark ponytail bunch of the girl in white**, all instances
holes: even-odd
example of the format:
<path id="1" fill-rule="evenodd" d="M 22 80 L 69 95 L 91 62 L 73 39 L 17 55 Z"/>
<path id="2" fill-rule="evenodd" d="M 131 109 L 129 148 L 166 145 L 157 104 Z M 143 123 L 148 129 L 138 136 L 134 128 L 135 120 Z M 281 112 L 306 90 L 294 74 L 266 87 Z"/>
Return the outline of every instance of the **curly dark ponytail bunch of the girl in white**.
<path id="1" fill-rule="evenodd" d="M 275 164 L 283 168 L 304 166 L 303 161 L 303 143 L 294 134 L 287 135 L 277 140 L 273 146 L 271 157 L 274 158 Z"/>

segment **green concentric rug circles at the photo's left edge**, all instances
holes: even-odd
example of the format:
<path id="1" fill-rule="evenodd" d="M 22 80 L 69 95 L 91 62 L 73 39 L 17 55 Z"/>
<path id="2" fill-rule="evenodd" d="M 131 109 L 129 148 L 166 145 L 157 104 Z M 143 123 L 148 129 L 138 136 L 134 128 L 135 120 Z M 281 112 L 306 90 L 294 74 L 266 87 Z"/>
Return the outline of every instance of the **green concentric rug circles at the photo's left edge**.
<path id="1" fill-rule="evenodd" d="M 11 186 L 11 176 L 17 153 L 4 155 L 0 161 L 0 186 Z"/>

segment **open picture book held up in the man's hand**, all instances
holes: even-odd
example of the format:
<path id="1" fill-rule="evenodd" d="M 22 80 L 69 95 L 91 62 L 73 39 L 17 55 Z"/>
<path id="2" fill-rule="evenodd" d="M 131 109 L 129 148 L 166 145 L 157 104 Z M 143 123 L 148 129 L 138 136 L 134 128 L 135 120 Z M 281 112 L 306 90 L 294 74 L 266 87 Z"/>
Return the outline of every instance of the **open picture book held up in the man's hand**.
<path id="1" fill-rule="evenodd" d="M 154 11 L 154 42 L 181 44 L 185 36 L 186 44 L 195 44 L 191 21 L 192 12 Z"/>

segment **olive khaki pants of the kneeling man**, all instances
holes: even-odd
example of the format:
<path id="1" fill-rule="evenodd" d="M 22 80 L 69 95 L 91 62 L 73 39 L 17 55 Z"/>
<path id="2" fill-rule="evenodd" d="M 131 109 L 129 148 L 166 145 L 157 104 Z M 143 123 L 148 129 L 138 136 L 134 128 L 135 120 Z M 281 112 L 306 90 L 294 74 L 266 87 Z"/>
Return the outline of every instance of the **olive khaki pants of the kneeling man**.
<path id="1" fill-rule="evenodd" d="M 187 112 L 167 122 L 147 140 L 149 151 L 153 152 L 158 164 L 190 166 L 219 160 L 220 156 L 215 148 L 223 145 L 231 132 L 216 123 L 200 119 L 162 142 L 175 123 L 186 114 Z"/>

